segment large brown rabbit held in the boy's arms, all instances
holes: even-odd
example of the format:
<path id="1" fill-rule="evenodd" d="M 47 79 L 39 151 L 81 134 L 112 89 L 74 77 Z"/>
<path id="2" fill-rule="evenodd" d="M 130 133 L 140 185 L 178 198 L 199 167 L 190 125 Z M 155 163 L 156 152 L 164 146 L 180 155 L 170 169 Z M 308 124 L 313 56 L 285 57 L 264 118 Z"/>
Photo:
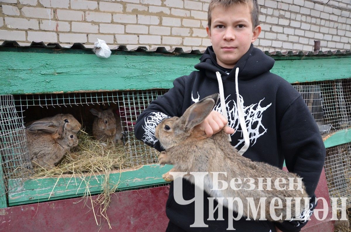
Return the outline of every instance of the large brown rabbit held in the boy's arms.
<path id="1" fill-rule="evenodd" d="M 224 130 L 210 138 L 206 138 L 205 132 L 195 127 L 210 114 L 218 98 L 219 94 L 210 95 L 191 105 L 180 118 L 166 118 L 157 125 L 155 137 L 159 139 L 165 149 L 159 156 L 159 163 L 161 165 L 173 164 L 174 166 L 170 172 L 209 172 L 209 175 L 206 175 L 204 180 L 204 190 L 212 197 L 224 197 L 223 205 L 236 212 L 238 212 L 238 204 L 236 202 L 229 204 L 227 197 L 239 197 L 243 202 L 244 217 L 254 218 L 252 210 L 248 210 L 247 198 L 252 197 L 254 204 L 257 206 L 260 198 L 266 197 L 266 204 L 269 206 L 271 200 L 278 197 L 282 199 L 283 208 L 275 209 L 275 212 L 277 216 L 282 213 L 282 220 L 278 220 L 282 222 L 287 215 L 285 198 L 308 197 L 304 185 L 302 184 L 301 186 L 303 191 L 297 190 L 296 187 L 293 190 L 288 190 L 288 178 L 297 178 L 296 174 L 287 173 L 266 163 L 253 162 L 241 156 L 228 141 L 228 136 Z M 225 190 L 212 190 L 212 172 L 226 172 L 226 177 L 224 175 L 220 177 L 222 180 L 226 180 L 229 187 Z M 162 177 L 166 181 L 173 180 L 173 176 L 169 172 Z M 184 178 L 195 183 L 192 175 L 185 175 Z M 233 190 L 230 187 L 229 184 L 233 178 L 242 180 L 242 188 L 240 190 Z M 244 181 L 244 178 L 253 178 L 255 180 L 253 190 L 249 190 L 250 185 L 247 184 L 247 181 Z M 271 190 L 265 187 L 259 189 L 258 178 L 272 178 Z M 276 189 L 274 185 L 276 178 L 285 179 L 286 184 L 280 184 L 279 186 L 282 188 L 286 187 L 286 190 Z M 295 179 L 295 186 L 296 182 L 297 180 Z M 274 205 L 277 206 L 277 204 Z M 273 221 L 269 208 L 265 207 L 265 217 L 267 220 Z M 300 218 L 300 214 L 295 215 L 294 199 L 291 201 L 291 209 L 291 216 Z M 304 200 L 302 200 L 298 211 L 301 213 L 304 209 Z M 258 212 L 256 219 L 259 219 L 260 215 L 260 212 Z"/>

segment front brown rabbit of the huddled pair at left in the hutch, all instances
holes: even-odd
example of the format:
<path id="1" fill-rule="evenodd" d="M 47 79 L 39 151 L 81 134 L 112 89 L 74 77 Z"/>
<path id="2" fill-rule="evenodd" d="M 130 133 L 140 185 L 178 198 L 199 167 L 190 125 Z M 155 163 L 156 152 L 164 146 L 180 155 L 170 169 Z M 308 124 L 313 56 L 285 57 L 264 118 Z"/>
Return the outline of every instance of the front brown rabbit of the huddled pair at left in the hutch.
<path id="1" fill-rule="evenodd" d="M 28 153 L 33 167 L 53 168 L 66 152 L 78 145 L 77 135 L 67 130 L 67 127 L 68 123 L 59 128 L 38 125 L 36 128 L 42 133 L 26 129 Z M 55 136 L 58 131 L 62 138 Z"/>

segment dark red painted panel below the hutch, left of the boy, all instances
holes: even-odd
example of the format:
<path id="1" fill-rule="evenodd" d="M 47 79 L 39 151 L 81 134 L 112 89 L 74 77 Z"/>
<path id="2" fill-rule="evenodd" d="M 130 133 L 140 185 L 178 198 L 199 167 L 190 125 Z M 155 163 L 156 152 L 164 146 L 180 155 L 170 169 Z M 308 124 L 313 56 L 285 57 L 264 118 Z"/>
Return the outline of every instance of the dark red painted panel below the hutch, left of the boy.
<path id="1" fill-rule="evenodd" d="M 112 194 L 107 210 L 112 230 L 102 217 L 97 225 L 90 198 L 75 198 L 0 209 L 0 231 L 165 231 L 168 192 L 163 186 Z"/>

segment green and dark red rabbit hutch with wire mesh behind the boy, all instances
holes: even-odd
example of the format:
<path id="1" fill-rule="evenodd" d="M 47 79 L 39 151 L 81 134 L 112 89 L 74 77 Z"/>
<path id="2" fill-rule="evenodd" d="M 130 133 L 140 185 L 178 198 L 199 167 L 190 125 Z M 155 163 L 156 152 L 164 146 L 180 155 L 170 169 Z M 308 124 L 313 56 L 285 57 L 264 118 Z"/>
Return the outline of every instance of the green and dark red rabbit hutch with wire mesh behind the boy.
<path id="1" fill-rule="evenodd" d="M 351 207 L 351 52 L 266 55 L 276 60 L 272 72 L 302 94 L 324 139 L 327 156 L 317 197 L 346 197 L 347 207 Z M 110 227 L 119 231 L 164 231 L 169 184 L 161 176 L 171 165 L 157 164 L 158 152 L 134 137 L 133 126 L 145 107 L 173 86 L 174 79 L 194 70 L 200 56 L 198 50 L 128 50 L 118 46 L 110 58 L 101 59 L 80 43 L 70 48 L 56 43 L 2 43 L 2 227 L 7 231 L 40 227 L 64 231 L 89 231 L 95 227 L 101 231 Z M 108 170 L 62 171 L 36 177 L 28 156 L 26 123 L 71 114 L 82 124 L 82 130 L 91 134 L 90 109 L 107 107 L 120 117 L 124 133 L 120 163 L 111 164 Z M 109 156 L 108 151 L 104 152 Z M 101 205 L 108 205 L 108 209 L 101 210 Z M 54 219 L 57 217 L 60 220 Z M 324 221 L 314 219 L 303 230 L 332 231 L 331 212 Z"/>

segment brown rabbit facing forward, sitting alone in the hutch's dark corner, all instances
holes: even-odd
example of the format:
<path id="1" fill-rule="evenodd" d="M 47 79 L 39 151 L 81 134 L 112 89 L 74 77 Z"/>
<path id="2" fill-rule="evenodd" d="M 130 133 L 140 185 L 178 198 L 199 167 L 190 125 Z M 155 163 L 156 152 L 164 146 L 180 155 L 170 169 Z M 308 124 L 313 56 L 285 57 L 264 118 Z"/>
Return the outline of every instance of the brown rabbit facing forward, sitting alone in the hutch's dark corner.
<path id="1" fill-rule="evenodd" d="M 122 125 L 119 116 L 113 113 L 112 109 L 96 110 L 90 109 L 95 115 L 93 122 L 93 136 L 102 142 L 122 143 Z"/>

